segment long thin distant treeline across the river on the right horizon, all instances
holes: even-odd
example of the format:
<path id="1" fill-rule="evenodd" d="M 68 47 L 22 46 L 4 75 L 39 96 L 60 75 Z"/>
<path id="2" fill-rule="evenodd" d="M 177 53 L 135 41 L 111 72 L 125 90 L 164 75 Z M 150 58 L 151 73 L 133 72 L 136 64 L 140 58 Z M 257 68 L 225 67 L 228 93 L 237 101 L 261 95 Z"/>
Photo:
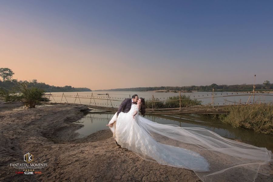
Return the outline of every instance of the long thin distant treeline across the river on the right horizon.
<path id="1" fill-rule="evenodd" d="M 215 83 L 207 86 L 160 86 L 160 87 L 136 87 L 136 88 L 124 88 L 124 89 L 106 89 L 96 91 L 134 91 L 134 92 L 145 92 L 145 91 L 156 91 L 156 90 L 185 90 L 185 91 L 199 91 L 199 92 L 239 92 L 239 91 L 252 91 L 253 85 L 217 85 Z M 255 90 L 257 91 L 273 91 L 273 84 L 269 81 L 265 81 L 263 84 L 255 84 Z"/>

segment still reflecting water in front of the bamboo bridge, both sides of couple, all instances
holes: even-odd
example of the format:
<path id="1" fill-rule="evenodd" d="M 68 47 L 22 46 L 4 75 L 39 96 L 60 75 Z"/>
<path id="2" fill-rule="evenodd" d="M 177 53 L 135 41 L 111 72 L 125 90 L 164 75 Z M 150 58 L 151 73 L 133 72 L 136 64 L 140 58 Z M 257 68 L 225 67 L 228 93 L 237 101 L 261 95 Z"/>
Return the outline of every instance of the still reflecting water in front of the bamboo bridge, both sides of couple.
<path id="1" fill-rule="evenodd" d="M 109 129 L 108 122 L 113 117 L 114 113 L 92 110 L 74 123 L 80 123 L 84 126 L 77 130 L 80 134 L 79 137 L 88 136 L 99 130 Z M 145 118 L 157 122 L 160 124 L 175 124 L 180 127 L 201 127 L 207 130 L 211 130 L 220 136 L 237 139 L 251 145 L 258 147 L 266 147 L 269 150 L 273 150 L 273 136 L 256 133 L 252 130 L 246 130 L 241 128 L 233 128 L 230 125 L 224 124 L 219 120 L 215 120 L 210 116 L 202 116 L 197 114 L 177 114 L 177 115 L 153 115 L 145 116 Z"/>

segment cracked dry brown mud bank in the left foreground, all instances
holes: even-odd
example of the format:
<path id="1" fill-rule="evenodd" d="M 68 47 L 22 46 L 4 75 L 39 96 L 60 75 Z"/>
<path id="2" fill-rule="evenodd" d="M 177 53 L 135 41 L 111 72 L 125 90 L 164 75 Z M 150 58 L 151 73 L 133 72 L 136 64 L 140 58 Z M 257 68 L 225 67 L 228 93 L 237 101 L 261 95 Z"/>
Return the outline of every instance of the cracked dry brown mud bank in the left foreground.
<path id="1" fill-rule="evenodd" d="M 0 112 L 0 181 L 200 181 L 193 171 L 141 159 L 101 130 L 76 139 L 86 106 L 54 105 Z M 9 163 L 48 163 L 42 174 L 15 174 Z M 258 176 L 256 181 L 271 181 Z"/>

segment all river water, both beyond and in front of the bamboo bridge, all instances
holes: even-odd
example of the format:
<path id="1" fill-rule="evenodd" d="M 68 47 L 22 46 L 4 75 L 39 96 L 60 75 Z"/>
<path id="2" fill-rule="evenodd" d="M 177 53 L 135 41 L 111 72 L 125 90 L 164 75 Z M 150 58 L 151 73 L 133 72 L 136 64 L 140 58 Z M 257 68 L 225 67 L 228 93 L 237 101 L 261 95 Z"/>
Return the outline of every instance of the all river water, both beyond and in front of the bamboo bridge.
<path id="1" fill-rule="evenodd" d="M 111 102 L 113 107 L 118 107 L 119 104 L 122 102 L 123 99 L 129 98 L 133 94 L 138 94 L 139 97 L 143 97 L 145 99 L 149 99 L 154 95 L 155 98 L 160 100 L 166 100 L 167 97 L 170 96 L 178 96 L 179 93 L 158 93 L 158 92 L 78 92 L 80 100 L 77 98 L 72 98 L 77 95 L 75 92 L 66 92 L 64 93 L 66 98 L 62 98 L 62 103 L 66 102 L 66 99 L 69 103 L 82 103 L 82 104 L 89 104 L 90 103 L 90 96 L 93 93 L 95 97 L 96 105 L 99 106 L 109 106 L 111 107 Z M 98 95 L 98 94 L 105 94 L 109 93 L 109 97 L 111 99 L 108 100 L 99 100 L 99 99 L 107 99 L 108 95 Z M 48 94 L 48 93 L 47 93 Z M 56 102 L 61 102 L 62 93 L 51 93 Z M 181 93 L 190 96 L 193 99 L 202 100 L 202 104 L 209 104 L 211 103 L 211 98 L 204 98 L 204 97 L 211 97 L 211 92 L 193 92 L 193 93 Z M 256 93 L 255 93 L 256 94 Z M 260 93 L 259 93 L 260 94 Z M 244 93 L 244 96 L 237 96 L 243 95 L 242 93 L 237 94 L 237 92 L 214 92 L 214 104 L 215 105 L 226 105 L 226 104 L 234 104 L 232 102 L 240 102 L 241 103 L 247 102 L 248 97 L 247 93 Z M 273 95 L 272 93 L 264 93 L 260 94 L 259 96 L 255 96 L 255 102 L 273 102 Z M 219 96 L 219 97 L 217 97 Z M 228 97 L 223 97 L 228 96 Z M 54 99 L 50 98 L 51 101 L 54 102 Z M 96 99 L 98 98 L 98 99 Z M 225 101 L 227 99 L 228 101 Z M 113 101 L 113 100 L 120 100 L 120 101 Z M 251 96 L 250 99 L 253 102 L 253 97 Z M 94 100 L 91 99 L 91 105 L 95 105 Z M 98 130 L 109 129 L 108 124 L 110 119 L 113 117 L 114 113 L 104 112 L 100 110 L 91 110 L 85 114 L 83 118 L 75 123 L 83 124 L 84 126 L 77 130 L 80 135 L 79 137 L 88 136 L 91 133 L 94 133 Z M 163 115 L 163 116 L 145 116 L 147 119 L 161 123 L 161 124 L 176 124 L 181 127 L 201 127 L 206 128 L 207 130 L 211 130 L 220 136 L 236 139 L 239 141 L 243 141 L 245 143 L 249 143 L 251 145 L 255 145 L 258 147 L 266 147 L 269 150 L 273 151 L 273 136 L 268 134 L 262 134 L 254 132 L 253 130 L 241 129 L 241 128 L 233 128 L 230 125 L 226 125 L 219 120 L 215 120 L 208 116 L 202 116 L 197 114 L 184 114 L 184 115 Z"/>

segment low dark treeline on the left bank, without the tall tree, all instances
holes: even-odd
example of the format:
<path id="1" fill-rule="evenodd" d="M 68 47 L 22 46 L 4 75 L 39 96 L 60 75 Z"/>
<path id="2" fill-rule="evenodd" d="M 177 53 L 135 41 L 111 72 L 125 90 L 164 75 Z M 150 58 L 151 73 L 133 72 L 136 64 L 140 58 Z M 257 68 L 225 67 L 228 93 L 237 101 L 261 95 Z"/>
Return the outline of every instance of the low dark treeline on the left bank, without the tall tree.
<path id="1" fill-rule="evenodd" d="M 5 83 L 3 83 L 0 80 L 0 87 L 5 89 L 5 90 L 12 90 L 12 87 L 17 86 L 18 80 L 17 79 L 10 79 L 10 80 L 5 80 Z M 22 83 L 23 81 L 19 81 L 20 83 Z M 25 83 L 27 83 L 28 87 L 37 87 L 40 89 L 43 89 L 45 92 L 88 92 L 88 91 L 92 91 L 89 88 L 74 88 L 72 86 L 51 86 L 45 83 L 38 83 L 36 79 L 32 80 L 31 82 L 28 81 L 24 81 Z"/>

